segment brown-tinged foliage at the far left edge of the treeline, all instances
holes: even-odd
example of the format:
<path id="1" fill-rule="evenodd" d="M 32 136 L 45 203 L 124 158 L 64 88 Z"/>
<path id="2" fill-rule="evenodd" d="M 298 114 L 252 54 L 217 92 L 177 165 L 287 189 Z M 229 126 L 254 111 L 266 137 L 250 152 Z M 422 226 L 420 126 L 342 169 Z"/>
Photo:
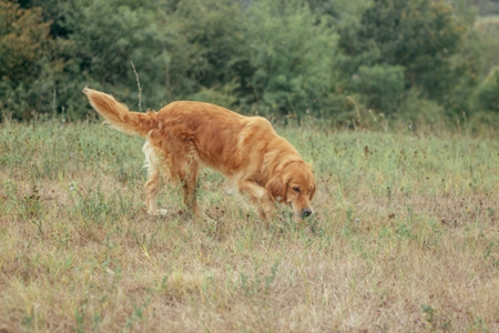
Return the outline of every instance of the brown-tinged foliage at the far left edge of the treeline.
<path id="1" fill-rule="evenodd" d="M 0 22 L 1 114 L 10 111 L 16 118 L 30 118 L 33 112 L 48 112 L 54 75 L 64 65 L 55 56 L 63 43 L 51 39 L 50 22 L 43 21 L 41 8 L 20 9 L 2 0 Z"/>

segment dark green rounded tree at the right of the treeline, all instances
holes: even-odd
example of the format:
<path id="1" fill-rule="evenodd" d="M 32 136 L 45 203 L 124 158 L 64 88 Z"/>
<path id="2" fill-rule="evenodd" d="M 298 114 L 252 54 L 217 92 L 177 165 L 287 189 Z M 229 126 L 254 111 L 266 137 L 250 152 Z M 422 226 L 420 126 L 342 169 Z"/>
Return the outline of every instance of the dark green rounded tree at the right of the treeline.
<path id="1" fill-rule="evenodd" d="M 444 102 L 452 83 L 450 57 L 467 29 L 452 10 L 445 1 L 374 0 L 357 31 L 340 33 L 339 44 L 350 57 L 345 68 L 353 74 L 363 65 L 401 65 L 407 90 Z"/>

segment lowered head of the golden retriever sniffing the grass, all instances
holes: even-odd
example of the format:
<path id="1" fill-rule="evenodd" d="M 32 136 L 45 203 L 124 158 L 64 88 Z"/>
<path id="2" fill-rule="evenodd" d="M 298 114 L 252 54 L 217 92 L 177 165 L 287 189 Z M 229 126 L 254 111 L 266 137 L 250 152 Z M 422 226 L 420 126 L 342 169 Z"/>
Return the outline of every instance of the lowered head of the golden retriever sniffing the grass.
<path id="1" fill-rule="evenodd" d="M 295 219 L 307 218 L 314 213 L 310 200 L 315 194 L 315 180 L 310 165 L 304 161 L 286 164 L 265 185 L 267 191 L 279 202 L 287 203 Z"/>

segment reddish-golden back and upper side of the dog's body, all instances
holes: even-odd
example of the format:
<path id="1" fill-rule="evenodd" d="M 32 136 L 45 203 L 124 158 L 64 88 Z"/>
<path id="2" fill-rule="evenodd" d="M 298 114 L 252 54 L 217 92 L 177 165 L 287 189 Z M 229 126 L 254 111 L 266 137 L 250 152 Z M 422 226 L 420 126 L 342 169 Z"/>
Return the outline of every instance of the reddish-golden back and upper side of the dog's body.
<path id="1" fill-rule="evenodd" d="M 153 145 L 187 145 L 203 164 L 225 175 L 236 172 L 241 163 L 247 165 L 248 160 L 262 163 L 257 160 L 265 147 L 283 140 L 264 118 L 244 117 L 202 102 L 170 103 L 157 112 L 157 123 L 147 137 Z M 255 143 L 261 147 L 254 147 Z M 252 152 L 257 155 L 252 157 Z"/>

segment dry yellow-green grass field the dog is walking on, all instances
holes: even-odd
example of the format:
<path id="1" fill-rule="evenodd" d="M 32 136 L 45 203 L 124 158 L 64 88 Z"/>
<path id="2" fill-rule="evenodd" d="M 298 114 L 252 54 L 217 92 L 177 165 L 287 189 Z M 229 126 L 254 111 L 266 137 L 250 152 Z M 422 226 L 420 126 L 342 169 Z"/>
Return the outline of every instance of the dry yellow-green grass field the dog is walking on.
<path id="1" fill-rule="evenodd" d="M 317 214 L 269 225 L 202 176 L 144 209 L 143 140 L 0 125 L 0 332 L 498 332 L 499 140 L 278 128 Z"/>

